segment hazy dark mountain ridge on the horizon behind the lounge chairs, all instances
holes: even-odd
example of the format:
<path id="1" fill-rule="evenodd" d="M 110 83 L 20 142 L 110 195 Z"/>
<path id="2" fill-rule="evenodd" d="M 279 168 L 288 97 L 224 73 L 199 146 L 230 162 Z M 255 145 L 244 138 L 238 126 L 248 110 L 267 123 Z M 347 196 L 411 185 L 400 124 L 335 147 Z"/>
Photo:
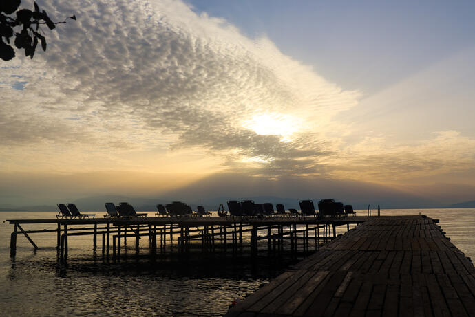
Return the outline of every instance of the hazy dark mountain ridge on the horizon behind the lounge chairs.
<path id="1" fill-rule="evenodd" d="M 448 185 L 447 185 L 448 186 Z M 432 190 L 433 188 L 428 188 Z M 437 195 L 437 200 L 430 196 L 416 194 L 415 190 L 399 190 L 381 184 L 341 179 L 318 177 L 286 177 L 278 180 L 261 179 L 249 175 L 216 174 L 196 182 L 156 194 L 131 195 L 91 195 L 74 199 L 54 197 L 54 204 L 41 206 L 3 205 L 0 211 L 56 211 L 56 202 L 75 203 L 79 210 L 85 212 L 104 211 L 104 203 L 111 201 L 118 204 L 127 201 L 137 211 L 156 210 L 156 204 L 168 204 L 171 201 L 184 201 L 196 210 L 203 205 L 207 210 L 218 210 L 220 204 L 227 210 L 226 201 L 252 199 L 256 203 L 270 202 L 284 204 L 285 208 L 299 209 L 300 199 L 312 199 L 317 208 L 320 199 L 335 199 L 344 204 L 352 204 L 355 209 L 366 209 L 371 204 L 383 209 L 403 208 L 475 208 L 475 200 L 447 206 L 453 201 L 449 196 Z M 468 196 L 469 197 L 469 196 Z M 469 197 L 472 198 L 472 197 Z M 450 199 L 450 200 L 449 200 Z M 462 199 L 457 199 L 462 200 Z M 26 201 L 25 201 L 25 204 Z M 33 203 L 34 204 L 34 203 Z"/>

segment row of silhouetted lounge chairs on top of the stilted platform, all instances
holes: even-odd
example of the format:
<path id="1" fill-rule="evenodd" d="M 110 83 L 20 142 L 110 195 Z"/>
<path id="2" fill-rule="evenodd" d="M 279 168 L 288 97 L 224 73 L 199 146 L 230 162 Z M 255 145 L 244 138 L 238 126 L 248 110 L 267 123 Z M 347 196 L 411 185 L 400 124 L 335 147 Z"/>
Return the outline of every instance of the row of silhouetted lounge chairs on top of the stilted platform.
<path id="1" fill-rule="evenodd" d="M 220 217 L 265 217 L 265 216 L 330 216 L 330 217 L 341 217 L 346 215 L 356 215 L 356 212 L 353 210 L 351 205 L 344 205 L 341 202 L 337 202 L 333 199 L 323 199 L 318 203 L 319 212 L 315 212 L 315 206 L 311 200 L 301 200 L 299 201 L 300 213 L 293 208 L 288 209 L 286 212 L 283 204 L 275 205 L 277 212 L 274 210 L 274 206 L 271 203 L 256 204 L 253 200 L 229 200 L 227 202 L 229 208 L 229 214 L 224 211 L 224 207 L 221 210 L 218 210 L 218 215 Z M 221 209 L 222 205 L 220 205 Z M 56 218 L 71 218 L 71 219 L 85 219 L 85 218 L 94 218 L 94 214 L 81 214 L 75 204 L 58 204 L 59 214 L 56 215 Z M 209 216 L 211 212 L 207 212 L 203 206 L 198 206 L 197 211 L 193 212 L 191 207 L 187 204 L 184 204 L 180 201 L 173 201 L 171 204 L 162 204 L 156 205 L 157 212 L 156 216 L 161 217 L 175 217 L 175 216 Z M 121 217 L 121 218 L 130 218 L 130 217 L 147 217 L 147 213 L 137 213 L 134 206 L 127 202 L 122 202 L 116 206 L 114 203 L 105 203 L 105 209 L 107 214 L 104 217 Z"/>

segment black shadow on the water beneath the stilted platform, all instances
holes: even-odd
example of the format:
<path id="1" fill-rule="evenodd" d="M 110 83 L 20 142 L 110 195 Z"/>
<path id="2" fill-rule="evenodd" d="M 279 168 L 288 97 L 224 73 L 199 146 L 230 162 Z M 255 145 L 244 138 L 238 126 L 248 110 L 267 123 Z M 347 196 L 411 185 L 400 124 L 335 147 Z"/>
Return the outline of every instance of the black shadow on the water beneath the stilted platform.
<path id="1" fill-rule="evenodd" d="M 186 252 L 168 250 L 152 253 L 147 248 L 142 253 L 125 248 L 119 256 L 93 252 L 70 257 L 67 262 L 56 261 L 56 276 L 67 277 L 74 274 L 105 276 L 127 275 L 171 275 L 187 278 L 251 278 L 268 280 L 282 274 L 286 268 L 298 263 L 312 252 L 278 253 L 261 251 L 251 256 L 246 245 L 234 252 L 202 252 L 201 248 L 190 248 Z"/>

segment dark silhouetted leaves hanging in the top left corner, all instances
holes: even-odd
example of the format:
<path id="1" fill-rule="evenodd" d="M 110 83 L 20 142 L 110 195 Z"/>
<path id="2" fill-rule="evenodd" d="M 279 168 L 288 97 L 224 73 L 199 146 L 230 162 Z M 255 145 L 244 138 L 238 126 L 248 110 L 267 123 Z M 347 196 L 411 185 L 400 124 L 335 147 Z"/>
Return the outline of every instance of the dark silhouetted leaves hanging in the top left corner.
<path id="1" fill-rule="evenodd" d="M 65 21 L 53 22 L 45 10 L 41 10 L 34 2 L 34 11 L 20 9 L 21 0 L 1 0 L 0 2 L 0 58 L 10 61 L 15 56 L 15 51 L 10 45 L 10 38 L 14 36 L 14 46 L 19 50 L 25 50 L 25 56 L 33 58 L 36 45 L 41 43 L 43 51 L 46 50 L 46 39 L 41 30 L 42 24 L 50 30 L 56 28 L 56 24 Z M 11 15 L 15 13 L 16 17 Z M 73 15 L 70 19 L 76 20 Z M 19 32 L 16 32 L 16 30 Z"/>

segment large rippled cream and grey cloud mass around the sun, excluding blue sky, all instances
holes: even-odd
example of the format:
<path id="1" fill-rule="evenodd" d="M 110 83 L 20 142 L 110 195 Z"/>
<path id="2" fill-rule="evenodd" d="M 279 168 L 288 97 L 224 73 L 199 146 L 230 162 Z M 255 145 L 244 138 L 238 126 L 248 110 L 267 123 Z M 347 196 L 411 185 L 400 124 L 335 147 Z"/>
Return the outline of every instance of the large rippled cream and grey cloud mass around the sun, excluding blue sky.
<path id="1" fill-rule="evenodd" d="M 335 120 L 359 92 L 329 83 L 266 38 L 246 38 L 180 1 L 39 4 L 56 20 L 74 13 L 78 21 L 52 32 L 34 61 L 3 67 L 26 82 L 21 91 L 0 84 L 0 151 L 10 157 L 24 149 L 61 154 L 64 144 L 94 157 L 199 148 L 232 170 L 269 177 L 346 175 L 360 164 L 346 163 L 365 159 Z M 377 161 L 387 165 L 405 151 L 393 150 L 378 149 Z"/>

